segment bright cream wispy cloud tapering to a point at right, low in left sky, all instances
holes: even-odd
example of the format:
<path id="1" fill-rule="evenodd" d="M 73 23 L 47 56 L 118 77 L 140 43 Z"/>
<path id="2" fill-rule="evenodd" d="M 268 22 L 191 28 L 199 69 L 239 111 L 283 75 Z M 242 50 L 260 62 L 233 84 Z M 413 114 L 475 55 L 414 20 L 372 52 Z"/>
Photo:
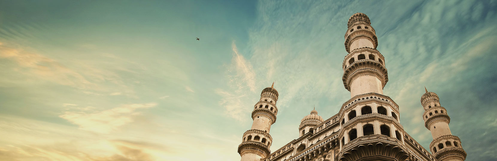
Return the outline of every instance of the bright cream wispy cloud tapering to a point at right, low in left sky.
<path id="1" fill-rule="evenodd" d="M 140 114 L 136 110 L 155 107 L 156 105 L 157 103 L 125 104 L 104 111 L 68 111 L 60 115 L 60 117 L 78 125 L 83 130 L 109 133 L 122 125 L 132 122 L 134 116 Z"/>

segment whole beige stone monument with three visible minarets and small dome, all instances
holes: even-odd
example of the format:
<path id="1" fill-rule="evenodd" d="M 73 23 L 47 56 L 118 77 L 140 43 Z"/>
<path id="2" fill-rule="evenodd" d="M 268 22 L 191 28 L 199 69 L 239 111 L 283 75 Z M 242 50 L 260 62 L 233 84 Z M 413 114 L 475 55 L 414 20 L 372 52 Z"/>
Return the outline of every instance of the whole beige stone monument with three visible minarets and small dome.
<path id="1" fill-rule="evenodd" d="M 425 127 L 433 136 L 430 150 L 404 131 L 399 105 L 383 95 L 388 72 L 369 17 L 355 13 L 347 26 L 342 80 L 351 98 L 327 120 L 312 110 L 301 120 L 299 138 L 271 153 L 269 129 L 278 112 L 273 83 L 252 111 L 252 128 L 238 148 L 242 161 L 464 161 L 467 154 L 435 93 L 426 90 L 421 97 Z"/>

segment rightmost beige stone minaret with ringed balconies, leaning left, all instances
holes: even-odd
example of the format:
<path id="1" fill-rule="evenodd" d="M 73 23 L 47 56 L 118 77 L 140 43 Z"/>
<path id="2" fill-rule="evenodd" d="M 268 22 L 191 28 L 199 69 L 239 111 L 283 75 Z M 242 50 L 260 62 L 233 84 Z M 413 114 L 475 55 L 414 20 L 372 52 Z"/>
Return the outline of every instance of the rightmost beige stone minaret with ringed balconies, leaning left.
<path id="1" fill-rule="evenodd" d="M 431 131 L 433 141 L 430 151 L 440 161 L 464 161 L 466 152 L 463 150 L 459 137 L 452 135 L 449 129 L 450 117 L 447 110 L 440 105 L 438 95 L 428 92 L 421 96 L 424 108 L 424 127 Z"/>

